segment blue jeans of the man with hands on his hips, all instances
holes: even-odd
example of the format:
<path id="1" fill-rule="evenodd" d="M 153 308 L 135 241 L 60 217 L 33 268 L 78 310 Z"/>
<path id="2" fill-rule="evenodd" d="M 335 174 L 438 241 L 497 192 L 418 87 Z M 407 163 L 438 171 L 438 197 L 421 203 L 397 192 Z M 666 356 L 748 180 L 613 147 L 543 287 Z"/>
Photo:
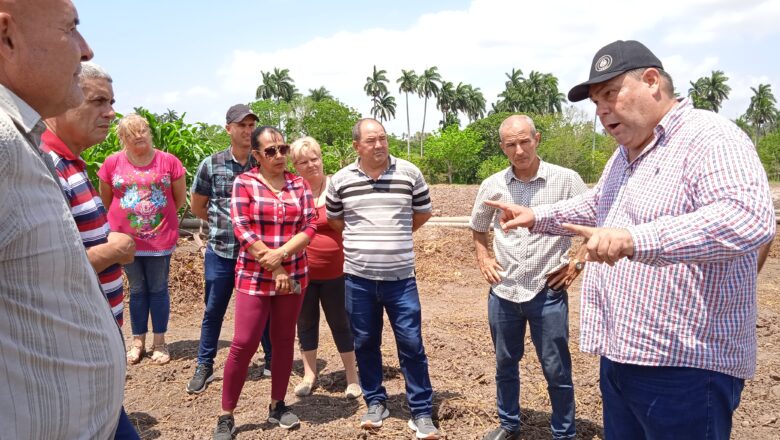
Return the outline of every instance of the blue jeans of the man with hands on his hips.
<path id="1" fill-rule="evenodd" d="M 550 394 L 553 438 L 574 438 L 574 385 L 569 353 L 569 301 L 565 290 L 545 287 L 533 299 L 515 303 L 488 295 L 488 323 L 496 350 L 496 403 L 501 427 L 520 429 L 520 373 L 525 324 Z"/>

